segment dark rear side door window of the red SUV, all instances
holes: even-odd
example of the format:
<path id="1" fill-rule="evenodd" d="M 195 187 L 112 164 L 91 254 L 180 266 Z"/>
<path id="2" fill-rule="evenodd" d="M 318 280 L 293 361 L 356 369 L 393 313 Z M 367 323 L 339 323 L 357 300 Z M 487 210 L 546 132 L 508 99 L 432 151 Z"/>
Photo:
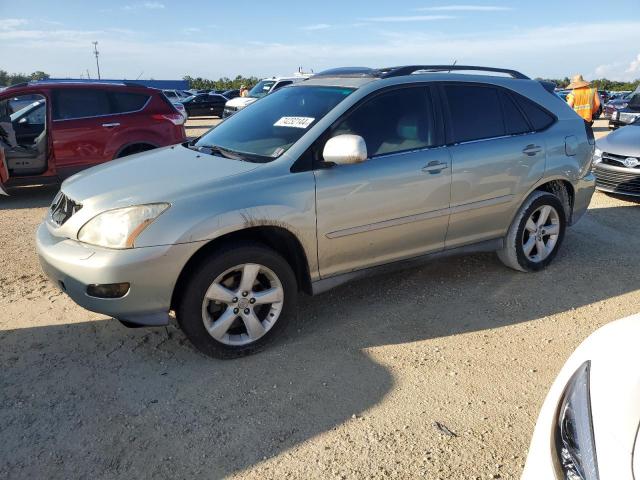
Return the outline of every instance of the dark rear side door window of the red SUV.
<path id="1" fill-rule="evenodd" d="M 56 90 L 53 94 L 54 120 L 96 117 L 110 113 L 109 96 L 104 90 L 65 88 Z"/>

